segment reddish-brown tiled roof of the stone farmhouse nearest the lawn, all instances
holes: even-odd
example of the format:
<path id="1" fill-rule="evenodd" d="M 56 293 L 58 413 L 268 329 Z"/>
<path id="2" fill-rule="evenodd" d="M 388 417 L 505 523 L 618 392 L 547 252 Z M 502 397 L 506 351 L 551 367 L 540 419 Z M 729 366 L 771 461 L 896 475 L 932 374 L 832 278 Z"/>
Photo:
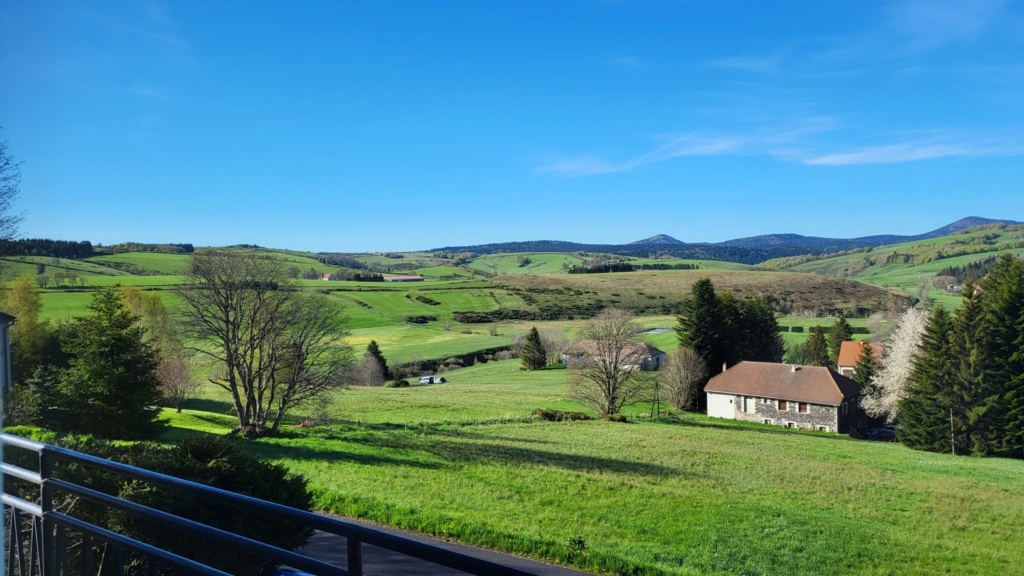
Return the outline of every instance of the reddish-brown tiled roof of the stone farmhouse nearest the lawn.
<path id="1" fill-rule="evenodd" d="M 705 392 L 839 406 L 860 384 L 820 366 L 740 362 L 715 376 Z"/>

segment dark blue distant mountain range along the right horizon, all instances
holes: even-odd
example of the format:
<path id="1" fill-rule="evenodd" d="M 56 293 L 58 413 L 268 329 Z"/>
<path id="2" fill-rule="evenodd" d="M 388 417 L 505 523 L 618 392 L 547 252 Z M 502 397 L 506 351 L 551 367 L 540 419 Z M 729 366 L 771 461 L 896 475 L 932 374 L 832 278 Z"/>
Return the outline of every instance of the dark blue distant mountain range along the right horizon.
<path id="1" fill-rule="evenodd" d="M 668 255 L 677 258 L 725 260 L 745 264 L 756 264 L 771 258 L 800 256 L 804 254 L 827 254 L 842 250 L 884 246 L 899 242 L 926 240 L 949 236 L 962 230 L 984 224 L 1017 224 L 1015 220 L 1000 220 L 969 216 L 916 236 L 879 235 L 862 238 L 819 238 L 799 234 L 768 234 L 738 238 L 717 243 L 687 244 L 666 234 L 658 234 L 629 244 L 580 244 L 558 240 L 531 240 L 525 242 L 502 242 L 476 246 L 446 246 L 434 251 L 476 252 L 602 252 L 624 256 Z"/>

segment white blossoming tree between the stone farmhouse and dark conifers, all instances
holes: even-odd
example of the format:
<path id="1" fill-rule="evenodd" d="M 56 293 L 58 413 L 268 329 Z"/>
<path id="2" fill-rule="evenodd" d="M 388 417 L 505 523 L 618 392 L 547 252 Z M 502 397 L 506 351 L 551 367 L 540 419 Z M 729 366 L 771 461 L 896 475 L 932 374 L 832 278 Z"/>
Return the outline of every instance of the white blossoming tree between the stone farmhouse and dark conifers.
<path id="1" fill-rule="evenodd" d="M 899 413 L 899 401 L 906 395 L 913 359 L 918 354 L 928 315 L 910 308 L 896 320 L 896 327 L 886 344 L 882 366 L 868 386 L 861 405 L 872 416 L 893 420 Z"/>

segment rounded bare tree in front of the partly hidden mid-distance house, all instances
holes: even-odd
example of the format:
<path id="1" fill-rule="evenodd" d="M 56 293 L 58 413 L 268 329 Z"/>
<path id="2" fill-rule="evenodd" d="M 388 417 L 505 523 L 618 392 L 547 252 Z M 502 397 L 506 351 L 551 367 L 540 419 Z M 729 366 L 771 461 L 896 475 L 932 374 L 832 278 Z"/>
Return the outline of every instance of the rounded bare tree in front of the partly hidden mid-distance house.
<path id="1" fill-rule="evenodd" d="M 654 378 L 641 370 L 643 346 L 635 342 L 639 332 L 633 315 L 622 310 L 606 310 L 587 323 L 570 348 L 580 354 L 568 366 L 569 396 L 602 416 L 647 400 Z"/>

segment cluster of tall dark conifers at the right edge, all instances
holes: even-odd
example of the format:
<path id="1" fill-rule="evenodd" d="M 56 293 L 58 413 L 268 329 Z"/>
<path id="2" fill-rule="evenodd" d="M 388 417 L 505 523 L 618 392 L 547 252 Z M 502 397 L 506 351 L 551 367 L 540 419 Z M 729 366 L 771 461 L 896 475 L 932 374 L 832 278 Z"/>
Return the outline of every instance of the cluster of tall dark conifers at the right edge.
<path id="1" fill-rule="evenodd" d="M 896 416 L 911 448 L 1024 458 L 1024 261 L 999 256 L 956 313 L 928 315 Z"/>

